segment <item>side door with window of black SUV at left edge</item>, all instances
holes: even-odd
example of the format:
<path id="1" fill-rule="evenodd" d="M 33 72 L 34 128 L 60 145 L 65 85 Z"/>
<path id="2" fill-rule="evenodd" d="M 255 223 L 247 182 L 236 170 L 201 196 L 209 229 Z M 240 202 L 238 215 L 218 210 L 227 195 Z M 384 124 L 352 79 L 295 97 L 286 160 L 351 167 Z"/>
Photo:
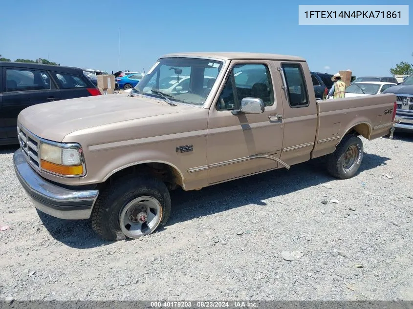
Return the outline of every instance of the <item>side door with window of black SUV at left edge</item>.
<path id="1" fill-rule="evenodd" d="M 17 139 L 17 116 L 26 107 L 59 100 L 59 89 L 43 70 L 4 67 L 2 114 L 8 138 Z"/>

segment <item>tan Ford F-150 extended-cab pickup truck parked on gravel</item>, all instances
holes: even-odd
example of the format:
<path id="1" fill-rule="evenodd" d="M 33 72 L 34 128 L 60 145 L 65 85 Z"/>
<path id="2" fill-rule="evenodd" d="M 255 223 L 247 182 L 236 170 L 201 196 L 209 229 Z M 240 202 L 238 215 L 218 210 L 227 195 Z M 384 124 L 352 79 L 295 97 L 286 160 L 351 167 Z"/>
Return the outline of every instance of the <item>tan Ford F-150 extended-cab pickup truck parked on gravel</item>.
<path id="1" fill-rule="evenodd" d="M 18 117 L 16 174 L 39 210 L 91 219 L 106 240 L 165 225 L 170 190 L 198 190 L 326 156 L 352 177 L 358 136 L 390 133 L 394 94 L 316 101 L 307 62 L 255 53 L 160 58 L 131 90 L 43 103 Z"/>

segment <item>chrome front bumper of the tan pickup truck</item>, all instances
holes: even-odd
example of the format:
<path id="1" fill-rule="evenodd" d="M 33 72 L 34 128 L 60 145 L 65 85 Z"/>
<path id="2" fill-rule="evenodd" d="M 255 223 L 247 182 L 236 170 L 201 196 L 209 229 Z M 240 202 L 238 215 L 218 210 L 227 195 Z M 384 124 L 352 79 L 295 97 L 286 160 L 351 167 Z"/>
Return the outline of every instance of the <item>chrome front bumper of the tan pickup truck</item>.
<path id="1" fill-rule="evenodd" d="M 14 169 L 34 206 L 61 219 L 88 219 L 99 190 L 69 190 L 46 181 L 27 163 L 22 149 L 13 155 Z"/>

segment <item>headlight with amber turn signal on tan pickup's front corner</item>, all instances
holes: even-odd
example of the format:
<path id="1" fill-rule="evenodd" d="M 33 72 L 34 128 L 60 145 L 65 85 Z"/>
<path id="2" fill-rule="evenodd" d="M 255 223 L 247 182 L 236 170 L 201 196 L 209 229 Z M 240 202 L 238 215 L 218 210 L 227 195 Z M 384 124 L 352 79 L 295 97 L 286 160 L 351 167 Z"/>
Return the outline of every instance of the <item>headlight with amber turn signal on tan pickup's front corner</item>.
<path id="1" fill-rule="evenodd" d="M 40 144 L 42 169 L 65 176 L 84 174 L 80 145 L 59 146 Z"/>

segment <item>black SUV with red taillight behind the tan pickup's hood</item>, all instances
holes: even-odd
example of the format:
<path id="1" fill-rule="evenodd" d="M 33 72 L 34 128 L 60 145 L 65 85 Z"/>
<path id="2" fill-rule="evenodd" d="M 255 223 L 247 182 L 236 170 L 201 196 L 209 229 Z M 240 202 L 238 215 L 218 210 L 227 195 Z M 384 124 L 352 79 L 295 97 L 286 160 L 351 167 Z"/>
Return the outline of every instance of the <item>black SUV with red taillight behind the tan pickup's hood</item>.
<path id="1" fill-rule="evenodd" d="M 0 62 L 0 145 L 18 144 L 17 116 L 26 107 L 101 95 L 82 69 L 60 65 Z"/>

